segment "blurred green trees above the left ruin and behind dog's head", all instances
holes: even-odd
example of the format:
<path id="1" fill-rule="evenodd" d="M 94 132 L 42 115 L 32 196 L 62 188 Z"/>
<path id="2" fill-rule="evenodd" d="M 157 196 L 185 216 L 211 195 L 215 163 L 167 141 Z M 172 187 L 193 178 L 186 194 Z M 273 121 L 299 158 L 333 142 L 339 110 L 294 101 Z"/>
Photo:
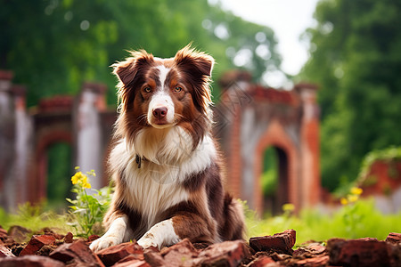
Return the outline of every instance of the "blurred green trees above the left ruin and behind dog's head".
<path id="1" fill-rule="evenodd" d="M 193 42 L 217 59 L 217 78 L 234 67 L 233 58 L 244 49 L 250 62 L 243 67 L 254 70 L 257 79 L 281 62 L 272 29 L 207 0 L 0 0 L 0 5 L 0 68 L 12 69 L 14 82 L 28 87 L 29 106 L 54 94 L 75 94 L 86 80 L 108 85 L 108 101 L 115 104 L 116 80 L 109 66 L 127 57 L 125 50 L 171 57 Z M 217 34 L 221 30 L 226 34 Z M 258 33 L 264 37 L 256 40 Z M 259 45 L 265 54 L 256 53 Z"/>

